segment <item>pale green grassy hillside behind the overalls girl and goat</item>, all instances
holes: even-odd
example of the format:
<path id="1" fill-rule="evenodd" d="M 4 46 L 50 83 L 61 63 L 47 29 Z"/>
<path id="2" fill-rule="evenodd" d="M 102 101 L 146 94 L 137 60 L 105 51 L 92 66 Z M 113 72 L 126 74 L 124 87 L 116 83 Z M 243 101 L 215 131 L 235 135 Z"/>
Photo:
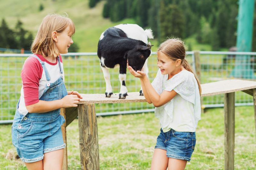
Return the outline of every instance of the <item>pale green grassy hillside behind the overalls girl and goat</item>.
<path id="1" fill-rule="evenodd" d="M 36 33 L 42 19 L 48 13 L 63 14 L 66 12 L 76 25 L 76 33 L 73 36 L 74 43 L 79 46 L 79 52 L 95 52 L 101 33 L 108 27 L 120 23 L 135 23 L 134 19 L 124 19 L 113 23 L 104 19 L 101 15 L 105 1 L 101 1 L 95 8 L 88 7 L 88 0 L 12 0 L 1 1 L 0 19 L 6 20 L 9 27 L 14 28 L 17 20 L 23 22 L 25 29 Z M 39 5 L 43 4 L 44 10 L 39 11 Z M 156 41 L 151 41 L 156 44 Z M 157 44 L 152 48 L 155 51 Z"/>

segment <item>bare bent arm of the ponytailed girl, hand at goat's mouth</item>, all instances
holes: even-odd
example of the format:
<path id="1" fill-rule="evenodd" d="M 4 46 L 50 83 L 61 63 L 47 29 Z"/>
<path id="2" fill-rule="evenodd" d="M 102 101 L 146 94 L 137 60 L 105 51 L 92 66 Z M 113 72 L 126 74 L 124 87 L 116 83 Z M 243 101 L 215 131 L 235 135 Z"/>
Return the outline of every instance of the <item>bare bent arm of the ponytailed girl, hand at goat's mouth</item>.
<path id="1" fill-rule="evenodd" d="M 142 89 L 144 85 L 144 89 L 147 90 L 147 95 L 149 97 L 149 100 L 154 104 L 155 107 L 160 107 L 166 104 L 167 102 L 172 100 L 172 98 L 175 97 L 175 95 L 177 94 L 174 90 L 172 91 L 164 90 L 164 92 L 159 95 L 154 89 L 154 87 L 151 85 L 146 73 L 142 71 L 135 72 L 131 66 L 128 66 L 128 70 L 130 71 L 130 73 L 132 73 L 134 77 L 138 77 L 140 78 L 141 81 L 144 82 L 143 84 L 141 83 Z M 144 89 L 143 89 L 143 93 L 144 93 Z"/>

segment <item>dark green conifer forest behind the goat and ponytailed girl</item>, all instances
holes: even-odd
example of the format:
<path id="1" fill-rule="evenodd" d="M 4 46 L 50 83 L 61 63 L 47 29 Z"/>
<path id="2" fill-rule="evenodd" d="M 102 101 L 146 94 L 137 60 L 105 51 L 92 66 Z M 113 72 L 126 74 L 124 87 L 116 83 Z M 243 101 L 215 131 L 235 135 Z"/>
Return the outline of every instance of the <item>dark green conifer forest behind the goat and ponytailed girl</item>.
<path id="1" fill-rule="evenodd" d="M 89 6 L 99 1 L 89 0 Z M 102 11 L 102 16 L 113 22 L 134 18 L 141 27 L 150 27 L 160 42 L 172 36 L 195 36 L 198 43 L 210 44 L 212 50 L 236 46 L 237 15 L 237 0 L 107 0 Z"/>

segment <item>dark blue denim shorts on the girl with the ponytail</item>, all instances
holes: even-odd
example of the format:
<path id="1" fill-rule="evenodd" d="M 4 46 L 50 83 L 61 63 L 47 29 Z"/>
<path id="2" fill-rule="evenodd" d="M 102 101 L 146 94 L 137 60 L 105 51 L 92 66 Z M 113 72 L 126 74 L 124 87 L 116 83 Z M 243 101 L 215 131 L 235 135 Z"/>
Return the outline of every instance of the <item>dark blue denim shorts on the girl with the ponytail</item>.
<path id="1" fill-rule="evenodd" d="M 160 131 L 155 148 L 166 150 L 168 158 L 190 161 L 196 145 L 196 133 L 177 132 L 173 129 L 164 133 L 162 128 Z"/>

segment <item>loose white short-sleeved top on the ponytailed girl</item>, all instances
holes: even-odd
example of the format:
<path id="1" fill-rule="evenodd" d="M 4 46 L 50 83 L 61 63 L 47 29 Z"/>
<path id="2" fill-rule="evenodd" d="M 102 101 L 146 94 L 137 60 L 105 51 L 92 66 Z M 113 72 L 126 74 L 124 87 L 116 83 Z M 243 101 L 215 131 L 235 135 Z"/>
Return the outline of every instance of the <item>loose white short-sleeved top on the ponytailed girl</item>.
<path id="1" fill-rule="evenodd" d="M 168 74 L 161 74 L 159 69 L 152 86 L 159 95 L 164 90 L 178 93 L 163 106 L 155 108 L 162 129 L 195 132 L 198 120 L 201 119 L 200 94 L 195 75 L 182 70 L 168 80 Z"/>

